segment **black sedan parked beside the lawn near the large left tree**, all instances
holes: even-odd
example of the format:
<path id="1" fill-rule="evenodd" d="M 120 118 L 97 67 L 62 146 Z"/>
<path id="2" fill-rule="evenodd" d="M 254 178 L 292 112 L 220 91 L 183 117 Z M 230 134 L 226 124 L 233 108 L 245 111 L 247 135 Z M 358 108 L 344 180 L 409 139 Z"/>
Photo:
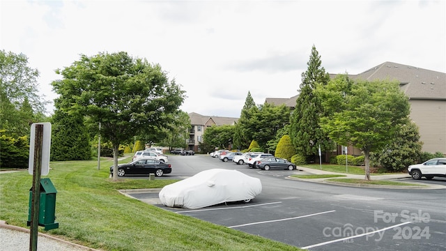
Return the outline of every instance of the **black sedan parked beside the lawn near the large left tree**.
<path id="1" fill-rule="evenodd" d="M 125 176 L 128 174 L 148 175 L 155 174 L 160 177 L 164 174 L 172 172 L 171 165 L 161 162 L 160 160 L 141 158 L 134 160 L 127 164 L 118 165 L 118 176 Z M 110 174 L 113 175 L 113 166 L 110 167 Z"/>

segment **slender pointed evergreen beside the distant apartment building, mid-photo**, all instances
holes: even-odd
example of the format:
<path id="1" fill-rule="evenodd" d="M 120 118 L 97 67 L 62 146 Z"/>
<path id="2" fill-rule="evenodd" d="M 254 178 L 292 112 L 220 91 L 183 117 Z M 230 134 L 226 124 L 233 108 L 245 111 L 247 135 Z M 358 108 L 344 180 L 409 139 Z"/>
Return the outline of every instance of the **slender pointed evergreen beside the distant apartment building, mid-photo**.
<path id="1" fill-rule="evenodd" d="M 251 132 L 248 131 L 249 120 L 251 119 L 252 108 L 256 107 L 256 103 L 248 91 L 243 105 L 242 112 L 240 112 L 240 119 L 236 123 L 236 128 L 233 135 L 234 146 L 238 149 L 247 149 L 252 140 Z"/>

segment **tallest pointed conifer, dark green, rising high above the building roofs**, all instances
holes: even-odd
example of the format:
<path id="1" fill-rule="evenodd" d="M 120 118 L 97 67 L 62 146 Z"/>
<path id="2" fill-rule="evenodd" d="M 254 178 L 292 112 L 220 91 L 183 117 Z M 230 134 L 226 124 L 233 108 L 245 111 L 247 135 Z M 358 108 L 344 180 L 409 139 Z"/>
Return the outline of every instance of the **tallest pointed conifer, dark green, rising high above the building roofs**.
<path id="1" fill-rule="evenodd" d="M 319 126 L 324 110 L 321 99 L 314 93 L 316 86 L 325 85 L 330 81 L 330 76 L 321 64 L 321 56 L 313 45 L 312 54 L 307 62 L 308 68 L 302 73 L 300 93 L 291 114 L 289 130 L 291 140 L 298 153 L 312 159 L 318 154 L 319 145 L 322 151 L 333 149 L 328 135 Z"/>

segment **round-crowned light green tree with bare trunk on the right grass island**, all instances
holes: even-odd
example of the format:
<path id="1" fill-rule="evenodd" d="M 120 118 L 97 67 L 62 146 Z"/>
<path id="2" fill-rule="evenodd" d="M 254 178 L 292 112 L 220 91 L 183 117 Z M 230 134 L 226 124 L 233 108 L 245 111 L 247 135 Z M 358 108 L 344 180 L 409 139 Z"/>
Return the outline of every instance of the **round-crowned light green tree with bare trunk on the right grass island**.
<path id="1" fill-rule="evenodd" d="M 328 112 L 321 128 L 337 144 L 353 145 L 365 157 L 365 179 L 370 179 L 370 153 L 385 149 L 406 123 L 410 110 L 407 96 L 398 82 L 358 80 L 346 75 L 320 85 L 316 91 L 323 97 Z"/>

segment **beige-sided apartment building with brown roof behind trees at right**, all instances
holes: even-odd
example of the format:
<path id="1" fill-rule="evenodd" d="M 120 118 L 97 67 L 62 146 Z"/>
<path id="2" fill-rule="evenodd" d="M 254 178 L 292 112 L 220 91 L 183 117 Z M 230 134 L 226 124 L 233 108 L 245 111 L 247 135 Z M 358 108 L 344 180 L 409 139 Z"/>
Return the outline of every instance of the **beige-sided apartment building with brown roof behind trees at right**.
<path id="1" fill-rule="evenodd" d="M 335 76 L 336 74 L 330 74 L 330 77 Z M 420 141 L 424 143 L 422 151 L 441 152 L 446 155 L 446 73 L 385 62 L 364 73 L 349 77 L 369 81 L 398 81 L 409 97 L 410 119 L 420 129 Z M 297 97 L 266 98 L 266 102 L 275 105 L 286 104 L 294 109 Z M 348 153 L 352 153 L 350 148 Z"/>

